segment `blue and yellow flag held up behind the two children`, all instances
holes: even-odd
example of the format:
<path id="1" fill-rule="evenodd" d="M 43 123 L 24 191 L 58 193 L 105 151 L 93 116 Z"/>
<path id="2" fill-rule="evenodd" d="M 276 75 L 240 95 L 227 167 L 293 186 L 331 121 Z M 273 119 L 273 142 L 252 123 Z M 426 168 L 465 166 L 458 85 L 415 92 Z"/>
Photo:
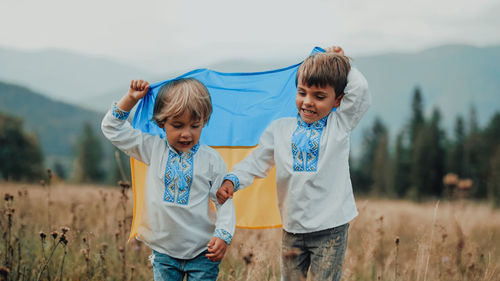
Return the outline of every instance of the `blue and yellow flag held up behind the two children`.
<path id="1" fill-rule="evenodd" d="M 324 52 L 315 47 L 311 54 Z M 200 142 L 215 148 L 230 168 L 243 160 L 258 144 L 264 129 L 274 120 L 297 115 L 295 77 L 300 63 L 271 71 L 222 73 L 197 69 L 178 78 L 201 81 L 212 97 L 213 113 L 203 129 Z M 172 80 L 172 79 L 171 79 Z M 132 125 L 143 132 L 165 136 L 154 121 L 156 95 L 166 80 L 150 86 L 140 101 Z M 134 219 L 130 237 L 137 234 L 142 220 L 138 210 L 145 204 L 144 185 L 147 166 L 131 158 L 134 191 Z M 275 169 L 265 179 L 256 179 L 251 188 L 234 195 L 236 225 L 241 228 L 281 227 L 276 196 Z"/>

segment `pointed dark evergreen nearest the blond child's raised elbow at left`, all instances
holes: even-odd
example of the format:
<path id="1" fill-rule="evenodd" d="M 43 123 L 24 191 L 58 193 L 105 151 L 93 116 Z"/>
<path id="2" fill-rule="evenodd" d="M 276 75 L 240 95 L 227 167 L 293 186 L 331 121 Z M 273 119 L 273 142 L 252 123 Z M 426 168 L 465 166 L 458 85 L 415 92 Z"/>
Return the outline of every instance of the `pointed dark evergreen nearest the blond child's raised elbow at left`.
<path id="1" fill-rule="evenodd" d="M 104 180 L 102 147 L 89 123 L 83 125 L 83 132 L 77 149 L 79 182 L 101 182 Z"/>

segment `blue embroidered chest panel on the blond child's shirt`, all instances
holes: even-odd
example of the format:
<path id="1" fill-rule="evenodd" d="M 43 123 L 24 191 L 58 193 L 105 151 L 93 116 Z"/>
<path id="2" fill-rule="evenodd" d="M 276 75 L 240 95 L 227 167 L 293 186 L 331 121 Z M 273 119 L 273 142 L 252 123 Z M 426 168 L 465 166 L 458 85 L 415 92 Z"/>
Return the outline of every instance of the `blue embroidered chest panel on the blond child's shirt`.
<path id="1" fill-rule="evenodd" d="M 181 154 L 176 153 L 173 149 L 168 151 L 167 166 L 165 168 L 165 192 L 163 201 L 180 205 L 189 203 L 189 193 L 191 184 L 193 183 L 193 159 L 194 154 L 198 151 L 200 144 L 196 144 L 190 151 Z M 175 200 L 175 193 L 177 200 Z"/>

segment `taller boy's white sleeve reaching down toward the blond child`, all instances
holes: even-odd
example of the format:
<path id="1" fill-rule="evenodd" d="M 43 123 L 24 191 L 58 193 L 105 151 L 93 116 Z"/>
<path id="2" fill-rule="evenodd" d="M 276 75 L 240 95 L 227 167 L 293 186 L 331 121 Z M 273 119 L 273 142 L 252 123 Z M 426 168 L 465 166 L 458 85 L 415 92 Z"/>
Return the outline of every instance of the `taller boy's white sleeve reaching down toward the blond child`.
<path id="1" fill-rule="evenodd" d="M 234 165 L 231 172 L 224 179 L 233 182 L 234 189 L 239 190 L 252 184 L 255 177 L 265 178 L 273 168 L 274 161 L 274 127 L 276 121 L 271 123 L 262 136 L 259 145 L 245 159 Z"/>

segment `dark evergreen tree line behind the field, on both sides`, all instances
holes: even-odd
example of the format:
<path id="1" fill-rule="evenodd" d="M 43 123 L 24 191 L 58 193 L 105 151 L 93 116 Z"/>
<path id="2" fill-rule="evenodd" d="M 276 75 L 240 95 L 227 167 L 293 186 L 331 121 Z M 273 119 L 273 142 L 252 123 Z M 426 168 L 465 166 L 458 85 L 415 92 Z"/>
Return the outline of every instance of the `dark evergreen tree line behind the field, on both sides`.
<path id="1" fill-rule="evenodd" d="M 362 153 L 351 161 L 355 192 L 420 201 L 465 189 L 471 198 L 489 199 L 500 206 L 500 112 L 480 128 L 471 107 L 467 121 L 458 116 L 454 127 L 454 135 L 448 137 L 439 108 L 425 116 L 417 87 L 411 116 L 395 135 L 394 144 L 380 118 L 364 132 Z M 53 173 L 85 183 L 130 179 L 128 157 L 116 149 L 113 155 L 104 155 L 88 123 L 82 126 L 75 154 L 72 171 L 56 162 Z M 43 177 L 43 165 L 36 137 L 23 131 L 20 119 L 0 114 L 0 179 L 37 181 Z"/>

